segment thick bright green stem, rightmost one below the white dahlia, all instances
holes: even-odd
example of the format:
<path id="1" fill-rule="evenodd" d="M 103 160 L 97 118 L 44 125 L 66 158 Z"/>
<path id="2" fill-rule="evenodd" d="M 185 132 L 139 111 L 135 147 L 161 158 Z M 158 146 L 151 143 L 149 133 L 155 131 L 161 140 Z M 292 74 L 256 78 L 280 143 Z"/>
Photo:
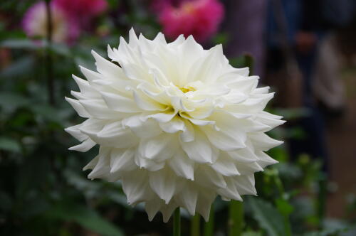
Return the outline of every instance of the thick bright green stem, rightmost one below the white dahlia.
<path id="1" fill-rule="evenodd" d="M 243 226 L 244 205 L 240 201 L 231 200 L 229 208 L 229 236 L 241 235 Z"/>

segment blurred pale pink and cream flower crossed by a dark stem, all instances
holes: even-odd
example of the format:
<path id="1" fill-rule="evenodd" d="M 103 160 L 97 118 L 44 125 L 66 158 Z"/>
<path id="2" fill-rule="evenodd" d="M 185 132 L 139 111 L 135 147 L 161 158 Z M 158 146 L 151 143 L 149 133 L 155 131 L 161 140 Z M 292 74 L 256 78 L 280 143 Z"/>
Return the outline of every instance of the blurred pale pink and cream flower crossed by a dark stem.
<path id="1" fill-rule="evenodd" d="M 56 43 L 71 43 L 78 38 L 78 24 L 56 4 L 51 4 L 52 40 Z M 40 1 L 26 11 L 22 21 L 23 30 L 28 37 L 47 36 L 46 3 Z"/>

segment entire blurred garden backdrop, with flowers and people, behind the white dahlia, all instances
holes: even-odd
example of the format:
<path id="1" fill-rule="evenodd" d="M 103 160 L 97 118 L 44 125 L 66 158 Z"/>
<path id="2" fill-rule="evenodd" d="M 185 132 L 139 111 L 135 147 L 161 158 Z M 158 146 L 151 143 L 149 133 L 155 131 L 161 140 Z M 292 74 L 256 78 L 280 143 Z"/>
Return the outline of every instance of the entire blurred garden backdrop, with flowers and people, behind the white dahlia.
<path id="1" fill-rule="evenodd" d="M 1 0 L 0 235 L 170 235 L 126 203 L 120 183 L 90 181 L 95 156 L 68 151 L 65 102 L 90 50 L 136 33 L 222 43 L 276 97 L 287 123 L 271 136 L 280 163 L 256 173 L 244 197 L 243 235 L 356 235 L 356 2 L 352 0 Z M 231 204 L 216 199 L 204 235 L 228 235 Z M 191 218 L 182 213 L 182 234 Z M 196 219 L 197 220 L 197 219 Z M 214 225 L 211 228 L 211 225 Z M 192 232 L 194 235 L 194 232 Z M 197 235 L 197 234 L 195 234 Z"/>

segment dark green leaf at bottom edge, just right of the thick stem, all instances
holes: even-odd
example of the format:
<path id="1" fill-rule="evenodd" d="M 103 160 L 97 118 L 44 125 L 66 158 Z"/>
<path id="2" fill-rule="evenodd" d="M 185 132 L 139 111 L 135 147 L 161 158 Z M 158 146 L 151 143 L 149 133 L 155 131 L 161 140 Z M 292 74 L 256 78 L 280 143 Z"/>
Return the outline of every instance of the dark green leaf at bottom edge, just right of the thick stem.
<path id="1" fill-rule="evenodd" d="M 283 216 L 271 203 L 258 198 L 248 198 L 248 204 L 251 207 L 253 218 L 268 232 L 268 236 L 286 235 Z"/>

